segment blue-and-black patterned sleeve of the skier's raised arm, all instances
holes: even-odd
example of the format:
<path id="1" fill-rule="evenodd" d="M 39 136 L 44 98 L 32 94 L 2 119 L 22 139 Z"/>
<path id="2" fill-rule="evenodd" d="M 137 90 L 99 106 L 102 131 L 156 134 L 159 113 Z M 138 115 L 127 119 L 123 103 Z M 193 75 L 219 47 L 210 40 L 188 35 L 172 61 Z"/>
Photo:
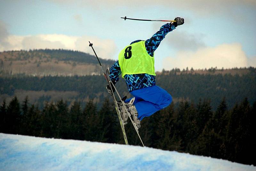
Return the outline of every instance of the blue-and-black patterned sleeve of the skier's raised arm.
<path id="1" fill-rule="evenodd" d="M 175 27 L 173 24 L 167 23 L 164 24 L 158 32 L 156 32 L 150 39 L 145 41 L 145 47 L 150 56 L 153 57 L 154 51 L 156 51 L 160 42 L 164 39 L 165 35 L 174 30 Z"/>

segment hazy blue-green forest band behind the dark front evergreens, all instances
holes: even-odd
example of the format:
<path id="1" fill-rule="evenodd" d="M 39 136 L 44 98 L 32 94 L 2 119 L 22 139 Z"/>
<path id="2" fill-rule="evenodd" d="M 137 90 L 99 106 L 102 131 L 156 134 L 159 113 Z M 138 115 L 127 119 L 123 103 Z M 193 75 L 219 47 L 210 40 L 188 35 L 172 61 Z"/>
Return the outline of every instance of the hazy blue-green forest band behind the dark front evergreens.
<path id="1" fill-rule="evenodd" d="M 157 76 L 156 84 L 166 89 L 174 97 L 174 102 L 188 99 L 190 102 L 198 103 L 200 98 L 207 98 L 211 99 L 214 110 L 217 109 L 223 97 L 227 98 L 228 106 L 242 102 L 245 97 L 251 105 L 256 101 L 255 68 L 250 68 L 249 73 L 241 76 L 238 74 L 186 74 L 186 71 L 178 70 L 165 71 Z M 102 75 L 0 77 L 0 95 L 15 96 L 15 90 L 76 91 L 79 94 L 74 97 L 76 100 L 89 96 L 89 98 L 101 99 L 99 100 L 101 102 L 102 99 L 108 97 L 105 85 L 106 81 Z M 120 94 L 128 95 L 124 79 L 120 79 L 116 85 Z M 73 99 L 70 100 L 73 101 Z"/>

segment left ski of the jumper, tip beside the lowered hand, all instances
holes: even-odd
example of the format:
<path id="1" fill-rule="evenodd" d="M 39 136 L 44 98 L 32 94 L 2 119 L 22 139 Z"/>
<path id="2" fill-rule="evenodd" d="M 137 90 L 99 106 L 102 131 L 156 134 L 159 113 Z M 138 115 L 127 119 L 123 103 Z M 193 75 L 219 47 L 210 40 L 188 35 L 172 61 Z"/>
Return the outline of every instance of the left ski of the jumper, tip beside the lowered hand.
<path id="1" fill-rule="evenodd" d="M 111 87 L 111 84 L 109 82 L 109 69 L 106 70 L 106 79 L 108 81 L 108 85 L 112 91 L 112 96 L 113 96 L 113 100 L 114 100 L 114 104 L 115 104 L 115 108 L 116 108 L 116 113 L 117 113 L 117 116 L 118 116 L 118 120 L 120 122 L 120 125 L 121 125 L 121 130 L 122 130 L 122 133 L 123 133 L 123 136 L 124 136 L 124 143 L 126 145 L 128 145 L 128 140 L 127 140 L 127 137 L 126 137 L 126 133 L 125 133 L 125 130 L 124 130 L 124 120 L 122 120 L 122 117 L 121 117 L 121 113 L 120 111 L 118 110 L 118 105 L 117 105 L 117 101 L 116 101 L 116 97 L 114 96 L 114 93 L 113 93 L 113 90 L 112 90 L 112 87 Z"/>

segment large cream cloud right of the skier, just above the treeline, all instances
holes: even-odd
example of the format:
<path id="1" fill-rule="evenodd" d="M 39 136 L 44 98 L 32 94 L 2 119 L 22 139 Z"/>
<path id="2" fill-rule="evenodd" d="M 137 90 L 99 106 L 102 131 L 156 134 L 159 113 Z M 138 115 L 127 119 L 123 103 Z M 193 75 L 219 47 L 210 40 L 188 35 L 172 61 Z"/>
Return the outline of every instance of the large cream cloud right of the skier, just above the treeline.
<path id="1" fill-rule="evenodd" d="M 180 51 L 176 56 L 163 60 L 165 69 L 172 68 L 232 68 L 249 66 L 242 46 L 239 43 L 221 44 L 216 47 L 200 48 L 196 52 Z"/>

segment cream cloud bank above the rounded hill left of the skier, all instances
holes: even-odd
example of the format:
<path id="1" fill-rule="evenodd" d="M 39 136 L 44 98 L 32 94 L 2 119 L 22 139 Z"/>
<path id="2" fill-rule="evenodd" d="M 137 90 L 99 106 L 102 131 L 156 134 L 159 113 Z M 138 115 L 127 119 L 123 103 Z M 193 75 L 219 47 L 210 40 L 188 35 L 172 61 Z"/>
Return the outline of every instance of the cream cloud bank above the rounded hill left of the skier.
<path id="1" fill-rule="evenodd" d="M 93 47 L 100 58 L 116 58 L 114 56 L 116 52 L 115 42 L 110 39 L 100 39 L 96 36 L 68 36 L 58 34 L 17 36 L 7 34 L 7 36 L 1 40 L 0 51 L 47 48 L 77 50 L 94 55 L 94 52 L 88 46 L 89 41 L 91 41 L 94 44 Z"/>

